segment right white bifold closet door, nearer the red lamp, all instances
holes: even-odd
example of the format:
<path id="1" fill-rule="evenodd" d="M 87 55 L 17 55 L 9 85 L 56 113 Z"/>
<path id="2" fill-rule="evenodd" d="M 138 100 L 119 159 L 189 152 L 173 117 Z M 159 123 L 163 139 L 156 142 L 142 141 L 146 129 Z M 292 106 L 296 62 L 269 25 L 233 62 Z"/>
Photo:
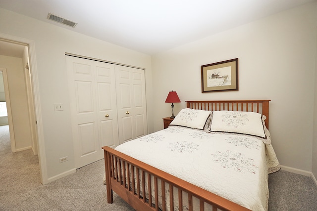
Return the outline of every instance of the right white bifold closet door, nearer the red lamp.
<path id="1" fill-rule="evenodd" d="M 144 70 L 115 65 L 115 79 L 121 144 L 148 132 Z"/>

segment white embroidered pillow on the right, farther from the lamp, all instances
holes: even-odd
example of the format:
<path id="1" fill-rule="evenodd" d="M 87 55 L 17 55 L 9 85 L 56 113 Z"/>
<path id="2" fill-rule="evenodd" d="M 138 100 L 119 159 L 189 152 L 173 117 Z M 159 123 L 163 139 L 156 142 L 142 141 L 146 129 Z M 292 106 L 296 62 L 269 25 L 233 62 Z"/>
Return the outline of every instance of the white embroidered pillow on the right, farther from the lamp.
<path id="1" fill-rule="evenodd" d="M 213 111 L 211 131 L 235 132 L 265 138 L 262 114 L 245 111 Z"/>

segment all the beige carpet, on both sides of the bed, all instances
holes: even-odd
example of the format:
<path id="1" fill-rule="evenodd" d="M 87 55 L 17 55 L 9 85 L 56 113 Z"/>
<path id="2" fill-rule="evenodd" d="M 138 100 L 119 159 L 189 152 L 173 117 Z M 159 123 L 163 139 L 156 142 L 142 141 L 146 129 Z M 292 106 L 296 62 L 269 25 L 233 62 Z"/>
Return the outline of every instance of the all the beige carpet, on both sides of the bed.
<path id="1" fill-rule="evenodd" d="M 40 184 L 32 150 L 11 152 L 8 128 L 0 126 L 0 211 L 133 211 L 115 193 L 106 202 L 104 160 Z M 287 171 L 269 175 L 268 211 L 317 211 L 317 186 L 308 176 Z"/>

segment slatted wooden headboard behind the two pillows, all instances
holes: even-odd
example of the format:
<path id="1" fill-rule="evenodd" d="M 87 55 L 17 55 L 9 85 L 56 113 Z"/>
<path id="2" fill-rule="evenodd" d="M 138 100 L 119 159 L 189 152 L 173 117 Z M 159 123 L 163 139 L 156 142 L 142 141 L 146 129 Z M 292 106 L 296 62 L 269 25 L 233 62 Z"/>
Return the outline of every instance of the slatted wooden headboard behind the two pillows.
<path id="1" fill-rule="evenodd" d="M 187 108 L 208 111 L 251 111 L 265 115 L 268 129 L 268 103 L 270 100 L 202 100 L 186 101 Z"/>

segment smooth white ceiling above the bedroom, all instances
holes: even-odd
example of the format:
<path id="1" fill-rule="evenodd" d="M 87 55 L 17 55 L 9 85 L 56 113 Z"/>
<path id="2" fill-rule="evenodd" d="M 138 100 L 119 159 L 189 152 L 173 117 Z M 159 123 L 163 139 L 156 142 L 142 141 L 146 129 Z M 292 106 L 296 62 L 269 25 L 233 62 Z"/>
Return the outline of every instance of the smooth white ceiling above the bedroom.
<path id="1" fill-rule="evenodd" d="M 0 7 L 153 55 L 314 0 L 0 0 Z M 48 13 L 78 23 L 48 20 Z"/>

